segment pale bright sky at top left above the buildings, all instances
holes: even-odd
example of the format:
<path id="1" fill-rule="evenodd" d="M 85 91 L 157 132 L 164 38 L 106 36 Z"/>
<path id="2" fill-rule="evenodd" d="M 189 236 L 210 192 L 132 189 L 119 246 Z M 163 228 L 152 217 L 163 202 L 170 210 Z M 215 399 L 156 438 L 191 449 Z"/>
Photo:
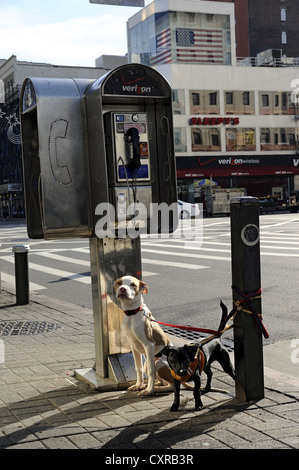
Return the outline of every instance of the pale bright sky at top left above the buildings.
<path id="1" fill-rule="evenodd" d="M 127 53 L 126 22 L 139 10 L 89 0 L 0 0 L 0 59 L 94 67 L 101 55 Z"/>

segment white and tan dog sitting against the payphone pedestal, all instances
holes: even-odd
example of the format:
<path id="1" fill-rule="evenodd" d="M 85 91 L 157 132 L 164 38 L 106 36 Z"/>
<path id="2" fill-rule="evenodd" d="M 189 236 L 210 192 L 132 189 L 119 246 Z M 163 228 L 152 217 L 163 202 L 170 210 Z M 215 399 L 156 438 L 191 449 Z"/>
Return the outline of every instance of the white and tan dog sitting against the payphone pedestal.
<path id="1" fill-rule="evenodd" d="M 130 343 L 137 374 L 137 382 L 129 387 L 129 390 L 141 390 L 139 395 L 151 395 L 156 378 L 155 354 L 165 346 L 171 345 L 171 342 L 162 328 L 150 320 L 150 318 L 154 320 L 154 317 L 143 302 L 143 294 L 148 292 L 148 285 L 145 282 L 133 276 L 123 276 L 115 281 L 114 289 L 125 313 L 122 333 Z M 145 355 L 147 362 L 146 388 L 143 382 L 142 354 Z"/>

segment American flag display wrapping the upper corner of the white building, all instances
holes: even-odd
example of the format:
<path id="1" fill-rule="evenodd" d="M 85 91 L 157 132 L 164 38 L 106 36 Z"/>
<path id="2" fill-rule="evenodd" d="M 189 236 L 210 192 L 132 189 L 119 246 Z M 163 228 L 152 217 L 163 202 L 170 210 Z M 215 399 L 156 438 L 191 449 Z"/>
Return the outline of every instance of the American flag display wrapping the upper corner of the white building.
<path id="1" fill-rule="evenodd" d="M 223 31 L 221 29 L 176 28 L 176 45 L 171 50 L 171 29 L 164 29 L 156 36 L 157 54 L 151 65 L 170 62 L 224 63 Z"/>

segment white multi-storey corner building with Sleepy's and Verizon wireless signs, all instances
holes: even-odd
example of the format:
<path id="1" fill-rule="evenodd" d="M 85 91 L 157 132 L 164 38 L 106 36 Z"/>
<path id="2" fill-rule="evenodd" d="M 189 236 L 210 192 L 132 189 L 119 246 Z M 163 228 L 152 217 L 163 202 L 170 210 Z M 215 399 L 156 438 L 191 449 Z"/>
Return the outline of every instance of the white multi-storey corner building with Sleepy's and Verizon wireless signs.
<path id="1" fill-rule="evenodd" d="M 184 26 L 181 20 L 171 26 L 167 45 L 172 51 L 170 62 L 162 59 L 154 64 L 173 89 L 179 188 L 184 188 L 185 197 L 191 202 L 194 194 L 196 196 L 194 190 L 198 181 L 212 178 L 221 187 L 245 188 L 248 195 L 259 197 L 278 195 L 280 201 L 285 202 L 292 191 L 299 190 L 299 113 L 296 104 L 299 68 L 256 67 L 250 62 L 240 64 L 232 52 L 230 63 L 225 60 L 211 62 L 208 57 L 203 60 L 204 41 L 199 45 L 198 55 L 192 58 L 194 45 L 185 44 L 185 59 L 178 61 L 178 30 L 180 34 L 182 29 L 185 30 L 183 34 L 190 34 L 191 11 L 198 15 L 197 18 L 204 16 L 206 21 L 209 15 L 222 15 L 222 21 L 219 18 L 217 21 L 223 26 L 222 38 L 228 37 L 227 25 L 232 25 L 228 18 L 233 15 L 233 4 L 222 3 L 220 10 L 218 3 L 215 13 L 217 3 L 161 0 L 145 7 L 128 21 L 129 60 L 153 63 L 151 61 L 160 53 L 157 20 L 173 18 L 175 12 L 182 18 L 181 9 L 184 8 L 188 21 Z M 134 46 L 141 40 L 138 34 L 143 35 L 144 45 L 150 43 L 144 40 L 146 25 L 150 22 L 155 25 L 148 30 L 152 49 L 143 47 L 138 54 Z M 215 25 L 211 23 L 210 28 L 214 31 Z M 204 34 L 206 41 L 212 34 L 206 24 Z M 229 36 L 233 46 L 232 26 Z"/>

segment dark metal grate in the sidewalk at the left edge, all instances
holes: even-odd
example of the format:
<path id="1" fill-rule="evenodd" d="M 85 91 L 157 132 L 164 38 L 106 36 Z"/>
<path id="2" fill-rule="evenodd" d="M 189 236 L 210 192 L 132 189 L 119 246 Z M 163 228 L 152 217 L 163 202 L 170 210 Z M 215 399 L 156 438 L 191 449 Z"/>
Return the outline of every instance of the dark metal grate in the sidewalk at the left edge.
<path id="1" fill-rule="evenodd" d="M 58 330 L 61 325 L 46 321 L 0 321 L 0 336 L 37 335 Z"/>

